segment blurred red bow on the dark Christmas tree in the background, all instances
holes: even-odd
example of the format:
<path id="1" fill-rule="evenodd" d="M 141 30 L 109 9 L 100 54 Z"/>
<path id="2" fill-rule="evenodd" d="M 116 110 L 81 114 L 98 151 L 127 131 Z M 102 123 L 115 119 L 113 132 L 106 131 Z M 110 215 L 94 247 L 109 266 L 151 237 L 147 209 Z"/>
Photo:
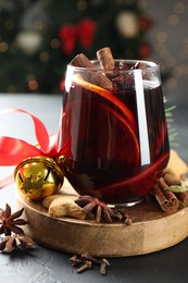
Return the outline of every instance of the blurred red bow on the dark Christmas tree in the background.
<path id="1" fill-rule="evenodd" d="M 77 25 L 63 25 L 59 30 L 59 37 L 63 44 L 63 52 L 71 56 L 76 42 L 79 41 L 84 48 L 92 46 L 96 33 L 96 23 L 91 19 L 84 19 Z"/>

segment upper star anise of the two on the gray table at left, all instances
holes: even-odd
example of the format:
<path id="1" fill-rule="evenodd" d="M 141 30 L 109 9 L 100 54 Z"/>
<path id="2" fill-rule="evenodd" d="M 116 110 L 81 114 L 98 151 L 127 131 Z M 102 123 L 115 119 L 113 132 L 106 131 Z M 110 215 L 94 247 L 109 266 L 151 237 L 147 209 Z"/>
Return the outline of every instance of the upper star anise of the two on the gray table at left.
<path id="1" fill-rule="evenodd" d="M 9 236 L 12 232 L 15 234 L 24 234 L 24 231 L 20 227 L 20 225 L 27 224 L 27 221 L 24 219 L 18 219 L 23 211 L 24 208 L 11 213 L 11 207 L 8 204 L 5 205 L 5 210 L 0 210 L 0 235 L 4 234 L 5 236 Z"/>

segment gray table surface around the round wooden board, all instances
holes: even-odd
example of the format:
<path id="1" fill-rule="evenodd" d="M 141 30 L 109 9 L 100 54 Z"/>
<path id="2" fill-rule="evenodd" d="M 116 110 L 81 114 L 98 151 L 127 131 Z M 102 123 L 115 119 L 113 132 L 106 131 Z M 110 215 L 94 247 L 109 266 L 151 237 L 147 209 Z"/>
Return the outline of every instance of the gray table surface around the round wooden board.
<path id="1" fill-rule="evenodd" d="M 38 116 L 49 133 L 59 126 L 61 96 L 45 95 L 0 95 L 0 110 L 21 108 Z M 178 153 L 188 162 L 188 112 L 187 103 L 179 103 L 174 111 L 174 126 L 179 134 Z M 23 138 L 35 143 L 32 120 L 24 114 L 0 116 L 0 135 Z M 0 168 L 0 177 L 9 175 L 12 168 Z M 15 208 L 14 184 L 0 190 L 0 208 L 9 202 Z M 187 223 L 188 224 L 188 223 Z M 112 243 L 113 244 L 113 243 Z M 187 282 L 188 238 L 181 243 L 149 255 L 111 258 L 106 276 L 97 268 L 77 274 L 70 266 L 72 255 L 36 246 L 30 251 L 0 254 L 0 282 L 9 283 L 63 283 L 63 282 Z"/>

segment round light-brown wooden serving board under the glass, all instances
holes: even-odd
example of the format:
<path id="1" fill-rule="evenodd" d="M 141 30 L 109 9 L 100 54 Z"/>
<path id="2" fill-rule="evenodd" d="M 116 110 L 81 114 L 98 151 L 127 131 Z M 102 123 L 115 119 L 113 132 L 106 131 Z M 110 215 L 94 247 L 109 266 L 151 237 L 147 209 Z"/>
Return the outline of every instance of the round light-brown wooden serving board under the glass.
<path id="1" fill-rule="evenodd" d="M 67 190 L 73 190 L 66 185 Z M 51 218 L 41 204 L 16 195 L 17 208 L 24 207 L 29 222 L 25 233 L 38 244 L 68 254 L 90 253 L 96 257 L 143 255 L 171 247 L 188 236 L 188 208 L 168 214 L 154 198 L 127 208 L 131 225 L 121 222 Z"/>

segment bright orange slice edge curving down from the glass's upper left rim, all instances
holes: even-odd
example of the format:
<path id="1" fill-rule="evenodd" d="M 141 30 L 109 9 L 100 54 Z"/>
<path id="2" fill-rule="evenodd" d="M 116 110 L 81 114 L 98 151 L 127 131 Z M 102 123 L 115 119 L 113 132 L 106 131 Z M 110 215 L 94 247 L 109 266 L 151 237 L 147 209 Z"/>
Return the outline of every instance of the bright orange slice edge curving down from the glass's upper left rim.
<path id="1" fill-rule="evenodd" d="M 112 95 L 111 91 L 109 91 L 100 86 L 97 86 L 97 85 L 93 85 L 91 83 L 84 81 L 79 74 L 76 74 L 73 77 L 72 82 L 76 85 L 79 85 L 90 91 L 93 91 L 93 93 L 100 95 L 101 97 L 108 99 L 110 102 L 114 103 L 125 115 L 125 119 L 128 121 L 133 131 L 136 131 L 136 122 L 135 122 L 135 118 L 134 118 L 131 111 L 117 97 Z"/>

